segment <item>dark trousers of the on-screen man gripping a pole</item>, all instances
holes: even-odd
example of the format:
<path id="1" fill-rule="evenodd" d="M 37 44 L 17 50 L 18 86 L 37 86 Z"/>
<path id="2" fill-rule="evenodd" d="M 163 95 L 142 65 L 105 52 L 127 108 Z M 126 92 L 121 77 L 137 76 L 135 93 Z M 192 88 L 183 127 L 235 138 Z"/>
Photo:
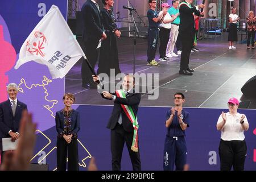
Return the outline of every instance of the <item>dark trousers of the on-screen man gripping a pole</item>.
<path id="1" fill-rule="evenodd" d="M 181 36 L 181 43 L 182 43 L 182 52 L 180 57 L 180 70 L 188 69 L 189 64 L 189 56 L 191 49 L 193 47 L 193 40 L 195 38 L 195 32 L 193 31 L 192 34 L 182 33 L 179 32 Z"/>

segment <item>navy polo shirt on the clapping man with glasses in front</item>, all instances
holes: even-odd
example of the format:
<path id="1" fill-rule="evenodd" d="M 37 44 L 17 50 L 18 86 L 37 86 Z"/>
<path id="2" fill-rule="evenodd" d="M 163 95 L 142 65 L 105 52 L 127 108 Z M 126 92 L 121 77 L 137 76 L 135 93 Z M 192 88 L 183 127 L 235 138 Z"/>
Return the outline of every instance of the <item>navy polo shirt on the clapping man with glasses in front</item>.
<path id="1" fill-rule="evenodd" d="M 170 118 L 171 110 L 168 110 L 166 113 L 166 120 Z M 184 111 L 184 109 L 181 111 L 181 118 L 183 118 L 183 122 L 186 123 L 189 127 L 189 113 L 187 111 Z M 168 137 L 183 137 L 185 136 L 185 131 L 183 131 L 180 127 L 179 119 L 177 118 L 177 111 L 175 111 L 174 119 L 172 120 L 172 123 L 170 127 L 167 127 L 166 135 Z"/>

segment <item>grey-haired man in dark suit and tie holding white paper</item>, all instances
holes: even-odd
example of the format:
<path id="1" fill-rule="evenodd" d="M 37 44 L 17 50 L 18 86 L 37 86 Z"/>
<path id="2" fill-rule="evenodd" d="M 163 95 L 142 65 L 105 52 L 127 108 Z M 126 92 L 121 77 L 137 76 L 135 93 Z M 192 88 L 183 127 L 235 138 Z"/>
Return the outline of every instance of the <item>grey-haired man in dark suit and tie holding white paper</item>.
<path id="1" fill-rule="evenodd" d="M 18 86 L 11 83 L 7 86 L 9 99 L 0 104 L 0 152 L 1 163 L 3 160 L 2 138 L 19 138 L 19 122 L 22 111 L 27 110 L 27 105 L 17 100 Z"/>

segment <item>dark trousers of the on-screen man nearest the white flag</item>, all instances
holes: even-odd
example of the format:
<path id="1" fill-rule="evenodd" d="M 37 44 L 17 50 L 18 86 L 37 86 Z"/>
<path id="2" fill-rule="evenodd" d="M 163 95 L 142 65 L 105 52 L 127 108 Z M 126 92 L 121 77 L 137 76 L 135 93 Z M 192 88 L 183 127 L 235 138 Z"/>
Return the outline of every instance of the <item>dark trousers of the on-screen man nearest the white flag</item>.
<path id="1" fill-rule="evenodd" d="M 94 38 L 88 39 L 84 42 L 84 53 L 90 65 L 92 65 L 93 70 L 98 58 L 98 52 L 96 51 L 97 46 L 98 46 L 98 40 Z M 81 75 L 82 75 L 82 84 L 93 82 L 93 79 L 92 79 L 93 74 L 90 71 L 89 66 L 86 63 L 84 58 L 82 58 Z"/>

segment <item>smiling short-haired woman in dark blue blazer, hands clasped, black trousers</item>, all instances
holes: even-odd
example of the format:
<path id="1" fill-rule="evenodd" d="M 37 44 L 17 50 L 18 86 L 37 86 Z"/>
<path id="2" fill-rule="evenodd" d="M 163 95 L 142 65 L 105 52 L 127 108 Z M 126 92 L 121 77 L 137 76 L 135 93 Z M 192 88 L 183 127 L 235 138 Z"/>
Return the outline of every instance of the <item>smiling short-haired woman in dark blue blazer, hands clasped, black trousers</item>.
<path id="1" fill-rule="evenodd" d="M 72 93 L 63 96 L 64 109 L 57 111 L 55 116 L 57 130 L 57 170 L 79 171 L 79 155 L 77 133 L 80 130 L 80 114 L 72 109 L 75 97 Z"/>

